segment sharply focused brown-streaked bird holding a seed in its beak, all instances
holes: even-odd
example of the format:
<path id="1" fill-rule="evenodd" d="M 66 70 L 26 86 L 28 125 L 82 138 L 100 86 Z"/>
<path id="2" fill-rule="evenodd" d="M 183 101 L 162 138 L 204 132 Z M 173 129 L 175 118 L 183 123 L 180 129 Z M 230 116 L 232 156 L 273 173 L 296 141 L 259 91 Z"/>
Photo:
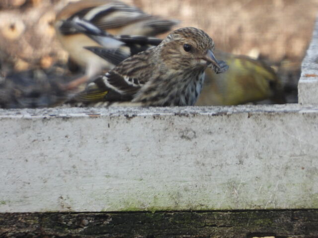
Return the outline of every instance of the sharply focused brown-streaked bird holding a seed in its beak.
<path id="1" fill-rule="evenodd" d="M 202 30 L 181 28 L 159 46 L 134 55 L 98 77 L 70 103 L 85 106 L 104 101 L 140 106 L 194 105 L 203 86 L 204 70 L 228 69 L 214 55 L 214 42 Z"/>

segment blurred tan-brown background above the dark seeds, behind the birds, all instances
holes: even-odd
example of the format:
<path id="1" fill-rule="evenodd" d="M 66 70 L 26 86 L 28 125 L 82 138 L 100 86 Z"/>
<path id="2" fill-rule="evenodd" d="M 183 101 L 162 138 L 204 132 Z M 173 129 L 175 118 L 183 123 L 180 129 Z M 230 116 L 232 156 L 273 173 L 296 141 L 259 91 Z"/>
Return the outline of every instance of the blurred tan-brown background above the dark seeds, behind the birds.
<path id="1" fill-rule="evenodd" d="M 0 0 L 1 73 L 66 62 L 55 40 L 55 13 L 70 0 Z M 123 0 L 144 11 L 205 30 L 216 47 L 270 62 L 284 84 L 297 85 L 318 0 Z M 162 36 L 163 37 L 163 36 Z"/>

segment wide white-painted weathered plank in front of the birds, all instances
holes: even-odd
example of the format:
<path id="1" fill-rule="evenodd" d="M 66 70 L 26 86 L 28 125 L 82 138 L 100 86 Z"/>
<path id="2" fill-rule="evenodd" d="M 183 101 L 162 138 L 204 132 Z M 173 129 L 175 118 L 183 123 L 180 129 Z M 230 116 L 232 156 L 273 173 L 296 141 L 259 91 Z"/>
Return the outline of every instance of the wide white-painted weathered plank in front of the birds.
<path id="1" fill-rule="evenodd" d="M 318 107 L 0 110 L 0 212 L 318 208 Z"/>

